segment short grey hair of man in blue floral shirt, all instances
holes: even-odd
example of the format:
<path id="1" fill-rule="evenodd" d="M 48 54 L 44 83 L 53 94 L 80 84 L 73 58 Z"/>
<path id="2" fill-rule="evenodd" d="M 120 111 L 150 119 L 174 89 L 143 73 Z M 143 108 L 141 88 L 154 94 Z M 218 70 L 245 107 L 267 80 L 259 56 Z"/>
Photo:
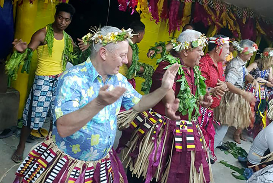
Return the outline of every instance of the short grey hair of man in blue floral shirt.
<path id="1" fill-rule="evenodd" d="M 104 26 L 100 29 L 100 33 L 103 36 L 106 36 L 108 33 L 111 33 L 111 32 L 122 32 L 122 31 L 118 29 L 117 27 L 112 27 L 112 26 Z M 91 55 L 90 55 L 91 59 L 96 57 L 97 52 L 99 51 L 101 47 L 105 47 L 110 52 L 114 52 L 115 49 L 118 48 L 118 45 L 115 43 L 109 43 L 105 46 L 103 46 L 101 43 L 97 43 L 97 44 L 91 43 L 90 46 L 91 46 Z"/>

